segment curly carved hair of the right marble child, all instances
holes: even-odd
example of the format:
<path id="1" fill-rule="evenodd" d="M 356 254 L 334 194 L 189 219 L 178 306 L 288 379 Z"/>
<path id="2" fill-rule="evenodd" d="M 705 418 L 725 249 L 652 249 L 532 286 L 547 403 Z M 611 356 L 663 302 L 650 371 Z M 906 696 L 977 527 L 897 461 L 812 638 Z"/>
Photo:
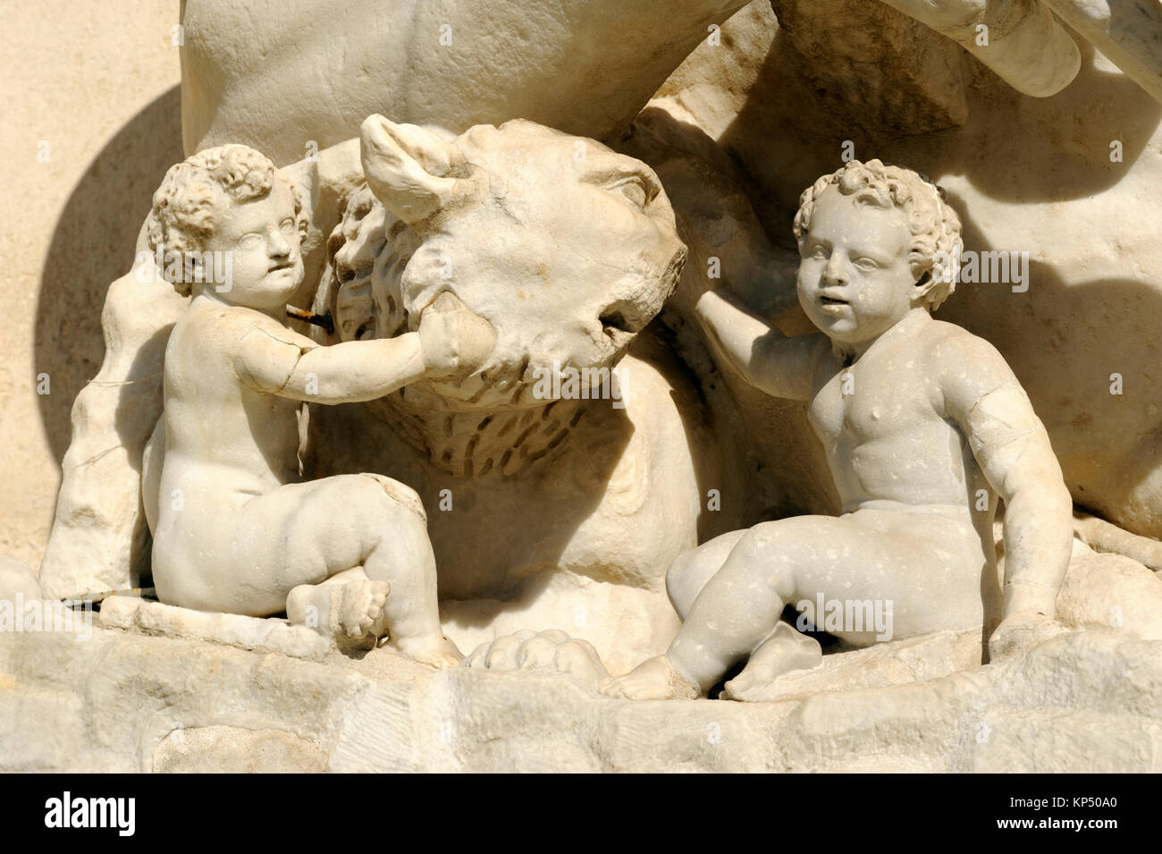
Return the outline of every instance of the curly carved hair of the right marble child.
<path id="1" fill-rule="evenodd" d="M 880 208 L 895 206 L 908 215 L 913 238 L 909 263 L 917 284 L 932 279 L 925 302 L 930 311 L 939 308 L 956 287 L 956 268 L 964 246 L 960 237 L 960 217 L 945 201 L 944 189 L 910 168 L 885 166 L 880 160 L 852 160 L 803 191 L 794 224 L 795 239 L 801 245 L 806 238 L 816 200 L 831 186 L 844 195 L 854 195 L 858 202 Z"/>

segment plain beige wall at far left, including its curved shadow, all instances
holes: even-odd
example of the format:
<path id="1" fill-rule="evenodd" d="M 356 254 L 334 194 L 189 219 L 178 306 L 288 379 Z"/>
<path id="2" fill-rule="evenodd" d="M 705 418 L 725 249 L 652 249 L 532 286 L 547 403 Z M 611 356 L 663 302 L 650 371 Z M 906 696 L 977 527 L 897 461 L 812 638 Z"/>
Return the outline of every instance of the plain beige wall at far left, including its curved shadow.
<path id="1" fill-rule="evenodd" d="M 0 7 L 0 553 L 36 568 L 100 314 L 150 195 L 181 159 L 178 0 Z M 49 159 L 37 159 L 48 142 Z M 37 374 L 49 375 L 38 395 Z"/>

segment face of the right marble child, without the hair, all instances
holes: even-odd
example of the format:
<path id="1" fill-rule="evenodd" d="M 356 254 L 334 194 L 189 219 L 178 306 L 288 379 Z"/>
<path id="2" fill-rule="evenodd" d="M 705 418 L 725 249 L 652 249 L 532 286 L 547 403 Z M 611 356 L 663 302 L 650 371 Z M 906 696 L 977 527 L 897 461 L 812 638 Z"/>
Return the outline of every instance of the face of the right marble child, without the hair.
<path id="1" fill-rule="evenodd" d="M 877 208 L 830 187 L 799 245 L 798 297 L 833 340 L 863 344 L 898 323 L 917 297 L 912 235 L 899 208 Z"/>

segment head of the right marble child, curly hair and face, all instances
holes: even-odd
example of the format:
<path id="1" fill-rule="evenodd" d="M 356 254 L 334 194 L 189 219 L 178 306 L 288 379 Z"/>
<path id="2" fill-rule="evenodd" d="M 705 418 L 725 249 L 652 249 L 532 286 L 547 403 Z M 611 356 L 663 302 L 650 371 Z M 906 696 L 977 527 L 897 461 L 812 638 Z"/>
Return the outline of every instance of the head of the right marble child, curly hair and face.
<path id="1" fill-rule="evenodd" d="M 853 160 L 799 198 L 798 295 L 834 340 L 873 339 L 955 287 L 960 218 L 944 191 L 880 160 Z"/>

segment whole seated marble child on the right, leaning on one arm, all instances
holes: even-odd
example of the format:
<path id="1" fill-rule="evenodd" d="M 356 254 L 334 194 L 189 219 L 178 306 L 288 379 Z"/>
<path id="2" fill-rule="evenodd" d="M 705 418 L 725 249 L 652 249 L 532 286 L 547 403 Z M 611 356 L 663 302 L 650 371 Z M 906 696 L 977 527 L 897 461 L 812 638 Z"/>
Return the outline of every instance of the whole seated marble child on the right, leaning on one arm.
<path id="1" fill-rule="evenodd" d="M 798 297 L 822 335 L 786 338 L 722 290 L 697 311 L 749 383 L 809 401 L 842 515 L 767 522 L 679 558 L 667 589 L 683 625 L 665 655 L 607 681 L 612 696 L 702 696 L 747 661 L 727 696 L 761 697 L 779 674 L 820 661 L 812 638 L 780 622 L 791 604 L 822 625 L 820 598 L 887 605 L 897 639 L 996 626 L 995 655 L 1057 630 L 1071 502 L 1048 436 L 1000 354 L 930 315 L 955 284 L 956 214 L 938 187 L 878 160 L 820 178 L 799 204 Z M 887 639 L 859 629 L 834 633 Z"/>

